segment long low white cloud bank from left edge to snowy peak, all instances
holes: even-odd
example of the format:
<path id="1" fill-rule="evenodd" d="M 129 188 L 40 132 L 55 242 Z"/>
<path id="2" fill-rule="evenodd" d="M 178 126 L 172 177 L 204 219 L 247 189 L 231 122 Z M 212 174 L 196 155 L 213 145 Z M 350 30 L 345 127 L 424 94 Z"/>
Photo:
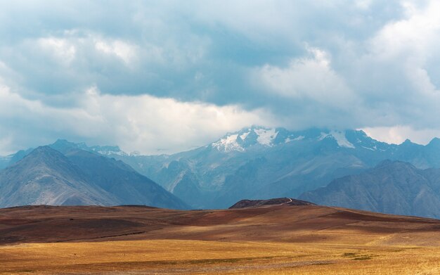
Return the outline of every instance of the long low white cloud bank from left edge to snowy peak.
<path id="1" fill-rule="evenodd" d="M 126 151 L 171 153 L 202 146 L 225 132 L 254 122 L 271 125 L 264 110 L 245 111 L 237 105 L 219 107 L 154 96 L 102 95 L 96 87 L 80 96 L 77 108 L 53 108 L 0 89 L 0 153 L 76 136 L 75 141 L 117 144 Z M 32 124 L 33 129 L 16 127 Z M 31 131 L 33 136 L 27 136 Z M 8 134 L 6 134 L 8 133 Z M 12 137 L 11 137 L 12 136 Z M 15 140 L 13 148 L 6 142 Z"/>

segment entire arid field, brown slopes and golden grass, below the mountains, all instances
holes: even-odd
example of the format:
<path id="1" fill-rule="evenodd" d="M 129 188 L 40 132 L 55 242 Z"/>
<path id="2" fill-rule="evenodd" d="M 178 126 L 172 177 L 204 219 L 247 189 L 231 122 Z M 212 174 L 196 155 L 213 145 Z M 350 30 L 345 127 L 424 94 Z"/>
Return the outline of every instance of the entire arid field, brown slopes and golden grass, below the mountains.
<path id="1" fill-rule="evenodd" d="M 0 210 L 5 274 L 439 274 L 440 221 L 321 206 Z"/>

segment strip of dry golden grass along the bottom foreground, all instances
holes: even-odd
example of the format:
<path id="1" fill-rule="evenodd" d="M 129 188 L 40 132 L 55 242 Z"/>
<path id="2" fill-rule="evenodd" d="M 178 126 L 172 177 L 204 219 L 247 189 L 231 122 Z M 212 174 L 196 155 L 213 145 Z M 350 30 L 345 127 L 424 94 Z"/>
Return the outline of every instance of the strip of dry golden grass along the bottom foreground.
<path id="1" fill-rule="evenodd" d="M 440 274 L 440 248 L 220 241 L 0 247 L 6 274 Z"/>

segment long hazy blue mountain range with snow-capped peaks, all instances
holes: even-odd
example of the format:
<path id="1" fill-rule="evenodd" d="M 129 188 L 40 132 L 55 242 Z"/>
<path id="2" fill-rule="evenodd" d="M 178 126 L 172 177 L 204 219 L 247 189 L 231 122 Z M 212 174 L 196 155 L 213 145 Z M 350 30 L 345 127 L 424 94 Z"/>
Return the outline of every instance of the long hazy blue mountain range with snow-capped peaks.
<path id="1" fill-rule="evenodd" d="M 425 169 L 440 167 L 440 139 L 427 146 L 371 139 L 362 131 L 248 127 L 218 141 L 173 155 L 138 155 L 117 146 L 86 146 L 65 140 L 58 151 L 83 150 L 122 160 L 186 203 L 224 208 L 241 199 L 297 198 L 333 179 L 358 174 L 383 160 Z"/>

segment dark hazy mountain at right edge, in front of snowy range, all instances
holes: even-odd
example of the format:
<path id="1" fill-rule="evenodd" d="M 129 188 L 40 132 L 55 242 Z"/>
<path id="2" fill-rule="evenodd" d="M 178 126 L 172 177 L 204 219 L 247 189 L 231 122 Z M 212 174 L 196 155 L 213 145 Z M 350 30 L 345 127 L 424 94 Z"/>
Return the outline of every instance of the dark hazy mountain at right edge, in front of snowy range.
<path id="1" fill-rule="evenodd" d="M 300 198 L 322 205 L 440 218 L 440 170 L 385 161 L 361 174 L 335 179 Z"/>

